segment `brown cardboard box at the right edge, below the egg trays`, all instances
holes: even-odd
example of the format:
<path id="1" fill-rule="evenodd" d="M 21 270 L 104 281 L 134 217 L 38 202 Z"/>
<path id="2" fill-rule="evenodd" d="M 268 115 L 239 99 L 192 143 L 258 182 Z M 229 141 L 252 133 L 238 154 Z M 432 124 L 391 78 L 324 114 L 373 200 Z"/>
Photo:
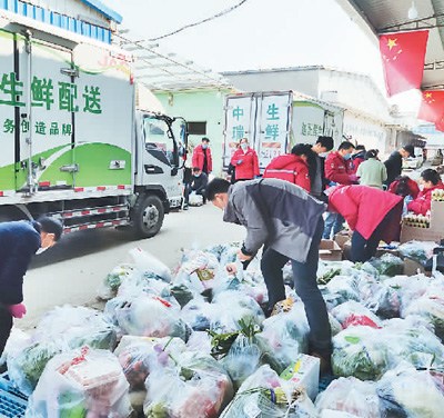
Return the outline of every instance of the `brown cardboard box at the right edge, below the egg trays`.
<path id="1" fill-rule="evenodd" d="M 401 228 L 401 242 L 412 240 L 440 242 L 442 239 L 444 239 L 444 201 L 432 200 L 430 228 L 410 227 L 404 223 Z"/>

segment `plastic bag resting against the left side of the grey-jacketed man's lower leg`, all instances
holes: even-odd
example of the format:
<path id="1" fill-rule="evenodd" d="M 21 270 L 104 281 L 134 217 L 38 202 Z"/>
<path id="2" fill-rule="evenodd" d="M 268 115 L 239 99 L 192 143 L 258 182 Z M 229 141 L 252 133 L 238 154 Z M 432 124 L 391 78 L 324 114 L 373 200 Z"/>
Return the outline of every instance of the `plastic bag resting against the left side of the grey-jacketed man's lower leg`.
<path id="1" fill-rule="evenodd" d="M 290 312 L 265 319 L 263 331 L 255 336 L 263 360 L 281 374 L 297 354 L 307 352 L 309 331 L 302 303 L 295 303 Z"/>

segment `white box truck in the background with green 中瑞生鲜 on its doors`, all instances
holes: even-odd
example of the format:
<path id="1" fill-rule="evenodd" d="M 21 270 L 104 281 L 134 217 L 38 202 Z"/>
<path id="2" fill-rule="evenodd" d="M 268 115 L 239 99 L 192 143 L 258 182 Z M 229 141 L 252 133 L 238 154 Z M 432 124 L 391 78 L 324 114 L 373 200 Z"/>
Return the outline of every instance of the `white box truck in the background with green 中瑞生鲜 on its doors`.
<path id="1" fill-rule="evenodd" d="M 229 94 L 224 111 L 225 168 L 242 138 L 258 152 L 261 170 L 295 143 L 314 143 L 320 136 L 342 141 L 343 109 L 293 91 Z"/>

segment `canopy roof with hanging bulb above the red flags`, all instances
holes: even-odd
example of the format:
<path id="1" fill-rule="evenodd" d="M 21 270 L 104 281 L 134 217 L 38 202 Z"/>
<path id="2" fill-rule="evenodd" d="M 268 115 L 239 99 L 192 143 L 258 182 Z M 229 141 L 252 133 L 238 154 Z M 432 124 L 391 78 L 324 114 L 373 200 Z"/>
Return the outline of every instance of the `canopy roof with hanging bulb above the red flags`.
<path id="1" fill-rule="evenodd" d="M 422 88 L 444 89 L 444 0 L 413 1 L 417 11 L 417 17 L 414 19 L 408 18 L 412 0 L 336 0 L 336 2 L 375 42 L 382 33 L 428 29 Z"/>

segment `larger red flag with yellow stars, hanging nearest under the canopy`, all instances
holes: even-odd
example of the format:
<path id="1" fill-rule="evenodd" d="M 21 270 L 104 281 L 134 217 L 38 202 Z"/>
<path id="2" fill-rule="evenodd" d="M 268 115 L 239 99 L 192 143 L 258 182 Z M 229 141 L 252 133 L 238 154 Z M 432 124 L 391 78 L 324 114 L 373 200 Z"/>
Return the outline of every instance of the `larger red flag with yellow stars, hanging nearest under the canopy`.
<path id="1" fill-rule="evenodd" d="M 396 32 L 380 37 L 380 51 L 389 96 L 421 87 L 427 38 L 427 30 Z"/>

